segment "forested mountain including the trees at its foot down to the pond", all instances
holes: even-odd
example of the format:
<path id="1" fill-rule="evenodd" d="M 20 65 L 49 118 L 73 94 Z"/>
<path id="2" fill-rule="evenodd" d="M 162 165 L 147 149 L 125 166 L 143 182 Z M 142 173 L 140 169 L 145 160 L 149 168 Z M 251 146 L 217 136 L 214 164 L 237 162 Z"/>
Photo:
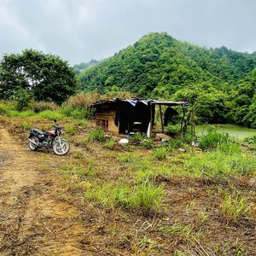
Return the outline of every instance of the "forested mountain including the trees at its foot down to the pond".
<path id="1" fill-rule="evenodd" d="M 225 47 L 206 49 L 166 33 L 149 33 L 81 72 L 79 86 L 85 91 L 129 90 L 137 96 L 197 101 L 201 102 L 197 103 L 201 122 L 230 121 L 250 126 L 253 122 L 245 119 L 247 113 L 241 113 L 241 119 L 234 108 L 249 111 L 255 95 L 254 67 L 256 53 Z M 249 95 L 242 90 L 245 84 L 252 85 Z M 236 101 L 238 96 L 249 98 L 247 108 L 245 102 Z"/>

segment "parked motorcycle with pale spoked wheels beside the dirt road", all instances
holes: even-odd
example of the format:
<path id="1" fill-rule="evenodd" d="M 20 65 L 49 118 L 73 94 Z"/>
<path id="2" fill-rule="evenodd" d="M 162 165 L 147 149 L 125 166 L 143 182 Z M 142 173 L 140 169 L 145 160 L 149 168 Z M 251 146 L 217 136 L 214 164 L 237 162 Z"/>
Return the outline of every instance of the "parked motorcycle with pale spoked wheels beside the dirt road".
<path id="1" fill-rule="evenodd" d="M 69 151 L 69 143 L 61 138 L 62 128 L 57 125 L 55 120 L 54 130 L 38 131 L 32 128 L 28 137 L 28 145 L 30 150 L 36 151 L 38 148 L 52 148 L 57 155 L 65 155 Z"/>

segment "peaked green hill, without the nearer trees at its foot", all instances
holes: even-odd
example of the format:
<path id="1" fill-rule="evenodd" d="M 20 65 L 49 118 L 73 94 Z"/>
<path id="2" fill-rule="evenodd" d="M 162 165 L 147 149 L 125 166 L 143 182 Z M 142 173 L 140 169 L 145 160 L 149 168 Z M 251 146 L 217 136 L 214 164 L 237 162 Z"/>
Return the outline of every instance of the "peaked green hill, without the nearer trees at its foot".
<path id="1" fill-rule="evenodd" d="M 80 83 L 83 90 L 102 93 L 116 85 L 139 96 L 168 96 L 184 86 L 201 82 L 229 89 L 253 67 L 256 67 L 255 54 L 225 47 L 205 49 L 177 41 L 166 33 L 150 33 L 85 70 Z"/>

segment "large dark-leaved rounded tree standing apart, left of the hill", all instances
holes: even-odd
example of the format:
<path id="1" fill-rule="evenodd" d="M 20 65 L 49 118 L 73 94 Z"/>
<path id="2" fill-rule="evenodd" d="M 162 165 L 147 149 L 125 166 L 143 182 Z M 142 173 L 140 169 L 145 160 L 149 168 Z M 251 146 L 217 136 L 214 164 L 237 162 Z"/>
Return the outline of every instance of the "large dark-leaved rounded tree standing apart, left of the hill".
<path id="1" fill-rule="evenodd" d="M 26 93 L 38 101 L 61 103 L 72 95 L 76 80 L 67 61 L 34 49 L 4 55 L 0 63 L 0 98 Z"/>

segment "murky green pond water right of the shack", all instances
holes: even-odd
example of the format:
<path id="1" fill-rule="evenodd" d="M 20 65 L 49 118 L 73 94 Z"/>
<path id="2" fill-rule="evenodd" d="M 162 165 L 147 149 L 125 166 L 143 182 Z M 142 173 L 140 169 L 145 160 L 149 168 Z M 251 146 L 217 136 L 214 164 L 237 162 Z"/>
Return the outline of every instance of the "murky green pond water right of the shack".
<path id="1" fill-rule="evenodd" d="M 239 139 L 256 136 L 256 129 L 247 128 L 240 125 L 196 125 L 195 131 L 197 135 L 200 136 L 202 133 L 206 132 L 207 129 L 209 129 L 211 126 L 214 126 L 220 132 L 229 133 L 230 136 Z"/>

